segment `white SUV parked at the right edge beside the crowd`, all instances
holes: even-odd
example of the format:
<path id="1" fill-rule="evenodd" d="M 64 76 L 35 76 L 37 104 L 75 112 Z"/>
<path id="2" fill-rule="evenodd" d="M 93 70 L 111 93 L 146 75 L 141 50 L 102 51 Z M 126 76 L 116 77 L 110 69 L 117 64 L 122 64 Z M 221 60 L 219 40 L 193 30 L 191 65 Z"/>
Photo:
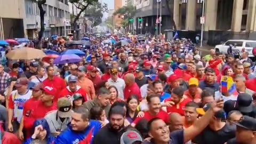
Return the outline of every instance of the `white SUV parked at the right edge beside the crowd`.
<path id="1" fill-rule="evenodd" d="M 215 51 L 217 52 L 223 52 L 227 54 L 229 45 L 235 45 L 236 47 L 233 47 L 233 51 L 239 51 L 241 52 L 242 49 L 244 48 L 246 52 L 249 53 L 249 57 L 254 58 L 255 55 L 253 55 L 253 48 L 256 48 L 256 41 L 251 41 L 251 40 L 244 40 L 244 39 L 230 39 L 226 43 L 216 45 L 215 46 Z"/>

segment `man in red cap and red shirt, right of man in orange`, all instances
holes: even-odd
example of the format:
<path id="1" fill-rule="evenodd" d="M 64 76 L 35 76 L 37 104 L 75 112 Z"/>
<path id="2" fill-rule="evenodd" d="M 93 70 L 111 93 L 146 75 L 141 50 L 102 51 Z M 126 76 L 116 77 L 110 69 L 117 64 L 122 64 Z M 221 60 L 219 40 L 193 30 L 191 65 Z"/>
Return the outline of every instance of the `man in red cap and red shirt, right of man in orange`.
<path id="1" fill-rule="evenodd" d="M 87 67 L 87 70 L 88 74 L 86 77 L 93 82 L 95 91 L 99 90 L 100 87 L 98 87 L 98 85 L 101 82 L 101 78 L 97 76 L 97 69 L 94 66 L 90 65 Z"/>

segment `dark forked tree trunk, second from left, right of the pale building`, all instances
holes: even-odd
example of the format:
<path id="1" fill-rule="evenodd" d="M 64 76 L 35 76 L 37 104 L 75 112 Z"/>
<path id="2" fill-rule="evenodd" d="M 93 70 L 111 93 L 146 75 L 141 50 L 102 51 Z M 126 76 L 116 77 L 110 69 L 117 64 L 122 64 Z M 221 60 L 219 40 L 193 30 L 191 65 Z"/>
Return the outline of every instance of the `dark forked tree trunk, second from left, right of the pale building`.
<path id="1" fill-rule="evenodd" d="M 93 2 L 98 2 L 98 0 L 69 0 L 69 2 L 79 10 L 79 13 L 75 15 L 75 18 L 73 19 L 74 38 L 77 39 L 77 20 L 80 18 L 81 14 L 87 9 L 89 5 L 92 5 Z"/>

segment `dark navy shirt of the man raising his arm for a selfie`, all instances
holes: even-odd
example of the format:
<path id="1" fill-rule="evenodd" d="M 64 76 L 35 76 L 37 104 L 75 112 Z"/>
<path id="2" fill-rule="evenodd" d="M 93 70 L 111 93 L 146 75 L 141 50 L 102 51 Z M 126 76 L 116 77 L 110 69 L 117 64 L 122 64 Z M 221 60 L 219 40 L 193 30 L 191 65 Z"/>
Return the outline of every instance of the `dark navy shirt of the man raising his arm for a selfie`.
<path id="1" fill-rule="evenodd" d="M 183 144 L 184 143 L 184 131 L 178 130 L 170 133 L 170 144 Z M 150 142 L 145 140 L 142 142 L 142 144 L 155 144 L 154 139 L 152 139 Z"/>

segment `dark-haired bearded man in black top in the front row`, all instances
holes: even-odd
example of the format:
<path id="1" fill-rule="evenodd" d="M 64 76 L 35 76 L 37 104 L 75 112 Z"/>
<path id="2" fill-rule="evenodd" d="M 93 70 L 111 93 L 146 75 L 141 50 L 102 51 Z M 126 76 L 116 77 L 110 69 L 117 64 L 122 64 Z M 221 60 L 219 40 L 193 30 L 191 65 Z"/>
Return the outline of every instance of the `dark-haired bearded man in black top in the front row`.
<path id="1" fill-rule="evenodd" d="M 109 112 L 109 123 L 95 135 L 93 144 L 119 144 L 121 135 L 127 130 L 124 126 L 125 110 L 121 106 L 114 106 Z"/>

